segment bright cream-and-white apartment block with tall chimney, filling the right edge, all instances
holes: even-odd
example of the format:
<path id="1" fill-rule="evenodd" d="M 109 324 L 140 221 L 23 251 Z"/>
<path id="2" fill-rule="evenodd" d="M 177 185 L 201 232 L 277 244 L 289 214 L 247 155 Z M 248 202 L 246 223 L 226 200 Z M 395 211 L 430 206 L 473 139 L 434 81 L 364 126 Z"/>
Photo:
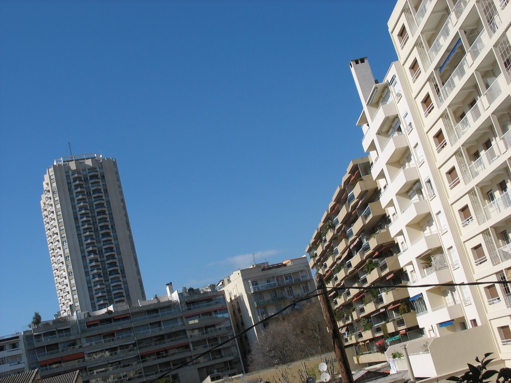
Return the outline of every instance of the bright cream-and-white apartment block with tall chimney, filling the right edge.
<path id="1" fill-rule="evenodd" d="M 510 25 L 508 0 L 399 0 L 388 22 L 399 60 L 384 80 L 367 58 L 350 63 L 362 146 L 423 334 L 404 343 L 415 376 L 484 352 L 511 364 L 507 284 L 413 287 L 511 269 Z M 391 358 L 400 347 L 386 351 L 394 370 L 406 369 Z"/>

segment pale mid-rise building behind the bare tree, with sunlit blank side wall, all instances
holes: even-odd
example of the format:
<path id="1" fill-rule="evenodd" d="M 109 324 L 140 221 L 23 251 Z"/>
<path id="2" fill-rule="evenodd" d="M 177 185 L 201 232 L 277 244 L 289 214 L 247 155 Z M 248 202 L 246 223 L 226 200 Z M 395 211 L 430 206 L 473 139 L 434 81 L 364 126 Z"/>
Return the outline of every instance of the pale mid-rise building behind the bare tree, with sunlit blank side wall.
<path id="1" fill-rule="evenodd" d="M 238 334 L 299 297 L 315 290 L 307 257 L 284 260 L 270 265 L 268 262 L 254 264 L 239 269 L 217 284 L 219 291 L 225 292 L 230 305 L 235 332 Z M 300 303 L 295 308 L 299 309 Z M 291 308 L 275 316 L 275 319 L 289 314 Z M 261 331 L 271 325 L 273 318 L 247 331 L 240 341 L 240 351 L 244 363 L 251 346 L 258 341 Z"/>

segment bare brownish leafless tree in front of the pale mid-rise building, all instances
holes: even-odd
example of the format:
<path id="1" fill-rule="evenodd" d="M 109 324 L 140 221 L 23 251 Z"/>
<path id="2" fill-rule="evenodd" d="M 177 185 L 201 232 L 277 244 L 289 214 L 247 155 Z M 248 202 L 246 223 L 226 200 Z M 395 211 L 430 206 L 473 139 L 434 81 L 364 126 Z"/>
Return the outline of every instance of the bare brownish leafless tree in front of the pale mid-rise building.
<path id="1" fill-rule="evenodd" d="M 319 302 L 311 302 L 301 310 L 271 320 L 252 347 L 249 370 L 295 362 L 332 349 Z"/>

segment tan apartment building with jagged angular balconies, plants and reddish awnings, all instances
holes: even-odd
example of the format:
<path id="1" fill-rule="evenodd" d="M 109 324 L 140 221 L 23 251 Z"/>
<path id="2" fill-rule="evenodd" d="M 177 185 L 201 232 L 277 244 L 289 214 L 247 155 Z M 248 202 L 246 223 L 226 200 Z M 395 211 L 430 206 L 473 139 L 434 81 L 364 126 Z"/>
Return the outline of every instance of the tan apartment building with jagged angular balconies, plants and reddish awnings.
<path id="1" fill-rule="evenodd" d="M 368 157 L 350 162 L 306 251 L 311 269 L 323 274 L 328 288 L 352 287 L 332 291 L 330 298 L 355 368 L 386 361 L 381 351 L 388 345 L 423 337 L 408 291 L 390 287 L 406 283 L 408 277 Z"/>

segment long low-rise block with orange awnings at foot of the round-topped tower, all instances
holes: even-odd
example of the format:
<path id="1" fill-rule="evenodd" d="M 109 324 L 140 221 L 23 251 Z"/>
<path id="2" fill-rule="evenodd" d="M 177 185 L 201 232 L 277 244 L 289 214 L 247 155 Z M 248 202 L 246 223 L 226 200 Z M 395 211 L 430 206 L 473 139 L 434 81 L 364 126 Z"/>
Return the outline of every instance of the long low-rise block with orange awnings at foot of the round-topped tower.
<path id="1" fill-rule="evenodd" d="M 177 293 L 42 322 L 24 332 L 30 369 L 48 377 L 79 369 L 84 382 L 143 382 L 170 368 L 175 381 L 200 383 L 242 372 L 223 292 Z"/>

